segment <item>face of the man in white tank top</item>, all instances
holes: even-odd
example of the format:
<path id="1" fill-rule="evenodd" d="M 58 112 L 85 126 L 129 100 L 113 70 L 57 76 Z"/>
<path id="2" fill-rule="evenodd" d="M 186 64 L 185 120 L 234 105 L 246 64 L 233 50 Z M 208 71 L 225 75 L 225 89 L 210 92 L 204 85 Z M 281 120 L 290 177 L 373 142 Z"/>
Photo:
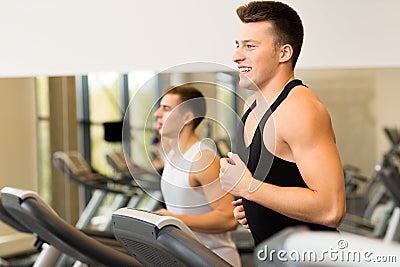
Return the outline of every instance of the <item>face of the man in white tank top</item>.
<path id="1" fill-rule="evenodd" d="M 184 114 L 180 111 L 181 99 L 177 94 L 166 94 L 161 99 L 160 107 L 154 113 L 157 118 L 156 129 L 161 136 L 178 138 L 185 126 Z"/>

